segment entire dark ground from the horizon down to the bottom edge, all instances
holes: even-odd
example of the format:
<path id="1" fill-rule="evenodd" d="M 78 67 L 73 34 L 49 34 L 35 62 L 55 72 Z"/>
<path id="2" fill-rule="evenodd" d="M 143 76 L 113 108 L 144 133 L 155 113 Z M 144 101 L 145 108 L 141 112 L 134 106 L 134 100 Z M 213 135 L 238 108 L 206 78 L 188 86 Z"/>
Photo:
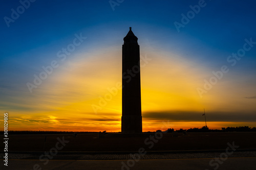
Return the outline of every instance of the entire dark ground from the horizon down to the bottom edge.
<path id="1" fill-rule="evenodd" d="M 2 151 L 0 169 L 248 170 L 256 169 L 255 139 L 255 132 L 103 138 L 98 134 L 10 135 L 8 166 Z"/>

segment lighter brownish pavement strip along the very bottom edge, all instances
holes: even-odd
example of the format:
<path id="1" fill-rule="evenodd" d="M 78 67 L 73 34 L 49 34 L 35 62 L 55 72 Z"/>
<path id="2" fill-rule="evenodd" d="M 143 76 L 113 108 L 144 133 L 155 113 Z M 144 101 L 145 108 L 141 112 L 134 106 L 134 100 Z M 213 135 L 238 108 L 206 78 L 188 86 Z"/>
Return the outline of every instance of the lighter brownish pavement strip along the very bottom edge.
<path id="1" fill-rule="evenodd" d="M 211 158 L 199 159 L 151 159 L 151 160 L 133 160 L 127 163 L 127 160 L 50 160 L 46 165 L 39 160 L 9 160 L 8 168 L 3 163 L 0 169 L 256 169 L 256 157 L 247 158 L 228 158 L 221 164 L 214 162 L 210 166 Z"/>

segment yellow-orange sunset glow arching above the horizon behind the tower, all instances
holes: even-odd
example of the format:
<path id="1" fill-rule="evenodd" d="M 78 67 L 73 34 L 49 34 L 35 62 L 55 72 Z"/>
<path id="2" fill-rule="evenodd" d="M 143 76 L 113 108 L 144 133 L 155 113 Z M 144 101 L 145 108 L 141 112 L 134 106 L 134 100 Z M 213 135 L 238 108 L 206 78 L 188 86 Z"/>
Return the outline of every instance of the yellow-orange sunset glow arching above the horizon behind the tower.
<path id="1" fill-rule="evenodd" d="M 121 89 L 111 94 L 108 89 L 121 83 L 121 51 L 99 51 L 91 56 L 80 55 L 54 70 L 33 93 L 24 93 L 20 103 L 9 112 L 10 130 L 59 131 L 112 131 L 121 130 Z M 204 126 L 203 108 L 207 112 L 253 111 L 253 101 L 245 101 L 242 91 L 233 93 L 228 79 L 218 82 L 200 98 L 196 88 L 202 87 L 209 75 L 206 69 L 193 61 L 169 54 L 141 53 L 150 60 L 141 61 L 142 117 L 147 112 L 184 111 L 198 112 L 200 121 L 183 122 L 162 117 L 143 117 L 143 131 L 160 128 L 189 129 Z M 203 70 L 203 71 L 202 71 Z M 111 94 L 111 99 L 104 99 Z M 229 95 L 227 95 L 229 94 Z M 238 98 L 241 96 L 241 99 Z M 103 102 L 102 102 L 102 99 Z M 101 102 L 101 104 L 100 104 Z M 20 110 L 20 107 L 25 107 Z M 26 110 L 26 108 L 28 108 Z M 170 113 L 172 114 L 172 113 Z M 228 113 L 227 113 L 228 114 Z M 201 116 L 201 117 L 200 117 Z M 231 115 L 230 115 L 231 116 Z M 166 124 L 166 122 L 168 124 Z M 172 122 L 172 123 L 170 123 Z M 209 128 L 248 126 L 254 123 L 219 122 L 209 120 Z M 167 127 L 167 126 L 169 127 Z"/>

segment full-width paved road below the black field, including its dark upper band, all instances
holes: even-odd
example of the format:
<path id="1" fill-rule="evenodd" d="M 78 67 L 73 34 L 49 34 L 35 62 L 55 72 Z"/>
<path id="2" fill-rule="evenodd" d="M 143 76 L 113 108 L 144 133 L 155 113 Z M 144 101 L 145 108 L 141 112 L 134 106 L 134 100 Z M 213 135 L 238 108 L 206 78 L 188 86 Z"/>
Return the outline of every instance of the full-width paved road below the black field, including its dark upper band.
<path id="1" fill-rule="evenodd" d="M 0 154 L 3 158 L 3 154 Z M 49 155 L 50 156 L 50 155 Z M 8 154 L 8 167 L 0 169 L 256 169 L 256 152 L 173 154 Z M 218 159 L 217 159 L 218 158 Z"/>

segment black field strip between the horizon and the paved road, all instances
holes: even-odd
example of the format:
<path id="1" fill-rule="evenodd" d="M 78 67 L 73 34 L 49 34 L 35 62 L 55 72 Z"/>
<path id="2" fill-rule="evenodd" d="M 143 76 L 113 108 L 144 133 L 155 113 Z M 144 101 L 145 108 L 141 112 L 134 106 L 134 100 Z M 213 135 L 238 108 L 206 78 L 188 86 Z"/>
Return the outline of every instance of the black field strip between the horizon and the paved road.
<path id="1" fill-rule="evenodd" d="M 228 142 L 239 145 L 239 149 L 256 149 L 256 132 L 221 132 L 179 133 L 178 137 L 164 133 L 160 139 L 146 136 L 98 138 L 98 134 L 78 134 L 77 137 L 73 134 L 9 135 L 8 151 L 49 151 L 55 147 L 58 137 L 69 141 L 60 152 L 138 151 L 140 148 L 146 151 L 225 150 Z M 5 148 L 3 142 L 1 148 Z"/>

